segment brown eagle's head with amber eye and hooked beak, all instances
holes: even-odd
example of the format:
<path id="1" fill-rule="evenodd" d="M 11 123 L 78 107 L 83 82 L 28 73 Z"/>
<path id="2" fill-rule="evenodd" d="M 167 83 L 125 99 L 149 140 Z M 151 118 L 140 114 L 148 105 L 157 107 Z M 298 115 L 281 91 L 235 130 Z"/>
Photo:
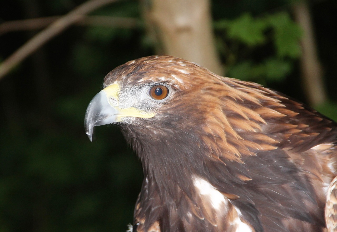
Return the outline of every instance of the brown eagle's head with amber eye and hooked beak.
<path id="1" fill-rule="evenodd" d="M 205 105 L 219 101 L 217 86 L 220 91 L 218 76 L 176 57 L 127 62 L 105 76 L 104 89 L 87 109 L 86 133 L 92 140 L 94 126 L 110 123 L 142 136 L 157 135 L 152 139 L 195 131 L 214 108 Z"/>

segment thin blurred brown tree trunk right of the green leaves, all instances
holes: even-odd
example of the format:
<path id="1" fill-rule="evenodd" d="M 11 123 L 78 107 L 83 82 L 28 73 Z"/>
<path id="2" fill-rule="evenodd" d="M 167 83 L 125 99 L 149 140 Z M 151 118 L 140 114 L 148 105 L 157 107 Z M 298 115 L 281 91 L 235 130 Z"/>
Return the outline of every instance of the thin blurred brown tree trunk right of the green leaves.
<path id="1" fill-rule="evenodd" d="M 295 20 L 304 32 L 301 40 L 302 55 L 300 65 L 305 94 L 309 104 L 315 106 L 327 100 L 327 93 L 324 88 L 322 69 L 318 60 L 310 11 L 305 1 L 296 2 L 293 9 Z"/>

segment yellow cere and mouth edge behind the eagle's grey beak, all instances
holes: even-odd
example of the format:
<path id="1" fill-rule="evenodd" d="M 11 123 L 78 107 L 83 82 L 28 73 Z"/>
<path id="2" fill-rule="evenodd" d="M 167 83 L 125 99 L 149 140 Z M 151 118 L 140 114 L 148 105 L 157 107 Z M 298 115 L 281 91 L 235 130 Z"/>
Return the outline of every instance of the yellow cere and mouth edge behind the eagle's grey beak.
<path id="1" fill-rule="evenodd" d="M 116 121 L 120 122 L 121 118 L 123 117 L 134 117 L 134 118 L 153 118 L 155 113 L 151 113 L 151 112 L 145 112 L 145 111 L 140 111 L 139 109 L 136 109 L 134 107 L 130 107 L 130 108 L 125 108 L 125 109 L 121 109 L 119 108 L 119 104 L 117 101 L 117 96 L 118 96 L 118 92 L 119 92 L 119 85 L 117 84 L 117 82 L 114 82 L 112 85 L 104 88 L 102 91 L 105 92 L 106 94 L 106 100 L 109 102 L 109 104 L 114 107 L 115 109 L 118 110 L 118 114 L 116 115 Z M 110 98 L 113 98 L 117 101 L 117 105 L 112 105 L 110 102 Z"/>

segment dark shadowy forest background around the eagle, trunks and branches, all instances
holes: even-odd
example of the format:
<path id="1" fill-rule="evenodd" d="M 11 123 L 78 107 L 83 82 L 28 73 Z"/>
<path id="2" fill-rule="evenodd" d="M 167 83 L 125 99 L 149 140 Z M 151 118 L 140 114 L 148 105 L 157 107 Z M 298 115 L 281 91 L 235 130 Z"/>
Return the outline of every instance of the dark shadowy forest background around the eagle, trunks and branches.
<path id="1" fill-rule="evenodd" d="M 0 23 L 63 15 L 83 2 L 2 1 Z M 337 119 L 337 1 L 308 4 L 329 96 L 329 101 L 317 108 Z M 289 1 L 212 1 L 217 48 L 227 67 L 225 75 L 232 73 L 236 78 L 241 76 L 240 72 L 235 76 L 235 65 L 241 61 L 249 60 L 256 68 L 265 58 L 277 56 L 273 39 L 249 45 L 229 37 L 226 27 L 221 26 L 247 12 L 252 18 L 279 12 L 292 18 Z M 137 1 L 110 4 L 92 14 L 142 21 Z M 0 35 L 0 62 L 36 32 Z M 269 33 L 266 29 L 266 38 Z M 233 48 L 231 52 L 224 44 L 229 50 Z M 141 164 L 118 128 L 97 127 L 96 139 L 90 142 L 84 131 L 84 113 L 101 90 L 106 73 L 129 60 L 155 53 L 144 26 L 71 26 L 0 79 L 0 232 L 126 230 L 143 179 Z M 235 56 L 235 61 L 228 61 L 228 54 Z M 280 76 L 249 76 L 307 102 L 299 56 L 282 58 L 288 66 Z"/>

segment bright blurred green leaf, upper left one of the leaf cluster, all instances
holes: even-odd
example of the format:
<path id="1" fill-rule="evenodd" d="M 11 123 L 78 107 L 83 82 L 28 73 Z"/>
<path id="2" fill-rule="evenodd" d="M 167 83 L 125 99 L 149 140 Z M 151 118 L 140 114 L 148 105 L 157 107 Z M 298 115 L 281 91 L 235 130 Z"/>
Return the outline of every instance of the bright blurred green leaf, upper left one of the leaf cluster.
<path id="1" fill-rule="evenodd" d="M 228 23 L 228 37 L 239 39 L 249 46 L 262 44 L 265 41 L 263 32 L 267 25 L 267 21 L 254 19 L 250 14 L 245 13 Z"/>

